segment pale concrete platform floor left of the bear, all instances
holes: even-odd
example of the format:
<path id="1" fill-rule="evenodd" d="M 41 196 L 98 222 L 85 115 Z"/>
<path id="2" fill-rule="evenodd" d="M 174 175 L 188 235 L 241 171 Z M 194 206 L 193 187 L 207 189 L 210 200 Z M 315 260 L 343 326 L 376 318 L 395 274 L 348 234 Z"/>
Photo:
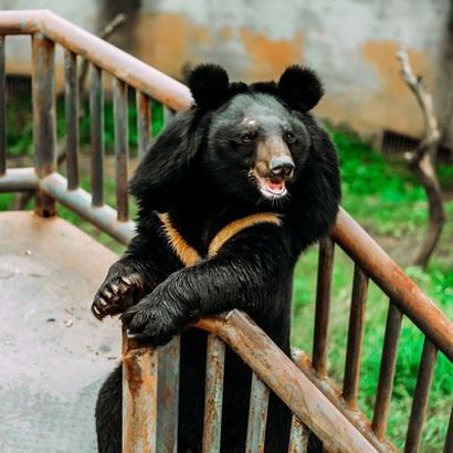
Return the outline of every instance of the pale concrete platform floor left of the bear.
<path id="1" fill-rule="evenodd" d="M 94 404 L 120 357 L 93 295 L 116 255 L 66 221 L 0 212 L 0 452 L 95 452 Z"/>

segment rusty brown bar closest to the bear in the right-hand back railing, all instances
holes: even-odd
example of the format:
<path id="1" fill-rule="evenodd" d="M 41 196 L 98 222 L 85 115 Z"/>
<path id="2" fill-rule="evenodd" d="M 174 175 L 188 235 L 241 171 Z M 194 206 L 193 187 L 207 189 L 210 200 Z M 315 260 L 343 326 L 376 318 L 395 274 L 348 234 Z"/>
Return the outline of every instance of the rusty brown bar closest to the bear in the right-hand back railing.
<path id="1" fill-rule="evenodd" d="M 330 238 L 325 238 L 319 242 L 313 367 L 322 376 L 327 375 L 327 336 L 334 250 L 335 244 Z"/>

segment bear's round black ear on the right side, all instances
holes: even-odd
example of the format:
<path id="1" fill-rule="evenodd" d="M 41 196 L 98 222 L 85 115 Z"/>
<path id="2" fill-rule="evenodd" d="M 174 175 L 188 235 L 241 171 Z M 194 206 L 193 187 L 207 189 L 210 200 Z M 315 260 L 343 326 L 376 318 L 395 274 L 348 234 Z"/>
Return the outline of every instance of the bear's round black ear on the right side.
<path id="1" fill-rule="evenodd" d="M 294 65 L 280 77 L 278 93 L 291 108 L 308 112 L 323 97 L 324 89 L 314 71 Z"/>

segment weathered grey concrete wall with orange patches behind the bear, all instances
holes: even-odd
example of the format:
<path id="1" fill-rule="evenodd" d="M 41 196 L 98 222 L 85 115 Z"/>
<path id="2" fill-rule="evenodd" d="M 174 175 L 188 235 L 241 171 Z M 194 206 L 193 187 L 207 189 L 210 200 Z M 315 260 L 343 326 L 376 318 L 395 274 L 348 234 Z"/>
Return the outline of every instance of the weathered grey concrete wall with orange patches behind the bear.
<path id="1" fill-rule="evenodd" d="M 129 21 L 115 42 L 159 70 L 180 78 L 188 66 L 213 61 L 232 78 L 252 81 L 307 64 L 326 86 L 318 114 L 362 134 L 422 133 L 399 75 L 401 44 L 434 93 L 440 85 L 449 89 L 439 83 L 449 0 L 0 1 L 3 8 L 49 8 L 88 30 L 125 4 Z"/>

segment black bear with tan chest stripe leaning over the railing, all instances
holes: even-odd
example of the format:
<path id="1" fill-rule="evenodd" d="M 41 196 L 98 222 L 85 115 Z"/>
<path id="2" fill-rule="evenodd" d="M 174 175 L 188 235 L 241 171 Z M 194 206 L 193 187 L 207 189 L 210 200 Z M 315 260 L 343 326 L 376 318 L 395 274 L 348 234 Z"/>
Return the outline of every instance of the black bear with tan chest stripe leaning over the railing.
<path id="1" fill-rule="evenodd" d="M 230 83 L 217 65 L 189 77 L 194 106 L 176 115 L 130 180 L 136 235 L 108 271 L 93 313 L 123 314 L 154 345 L 181 334 L 178 451 L 201 451 L 203 316 L 246 312 L 289 354 L 293 271 L 327 234 L 340 199 L 338 160 L 308 112 L 323 95 L 316 74 L 289 66 L 277 83 Z M 228 351 L 222 452 L 244 451 L 251 372 Z M 101 452 L 119 452 L 122 371 L 101 389 Z M 286 451 L 289 415 L 271 398 L 266 452 Z"/>

